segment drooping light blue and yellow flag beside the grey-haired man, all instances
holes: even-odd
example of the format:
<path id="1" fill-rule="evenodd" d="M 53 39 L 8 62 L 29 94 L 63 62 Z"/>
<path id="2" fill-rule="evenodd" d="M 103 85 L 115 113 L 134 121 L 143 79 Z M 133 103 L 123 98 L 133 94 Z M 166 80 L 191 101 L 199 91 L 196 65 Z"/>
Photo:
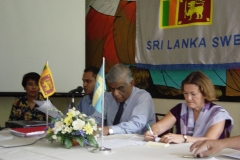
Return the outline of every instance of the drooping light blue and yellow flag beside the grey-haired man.
<path id="1" fill-rule="evenodd" d="M 104 99 L 104 91 L 106 90 L 106 82 L 105 82 L 105 58 L 103 58 L 103 64 L 98 72 L 98 75 L 96 77 L 96 83 L 95 88 L 93 92 L 93 100 L 92 100 L 92 106 L 95 107 L 95 109 L 102 113 L 102 103 Z"/>

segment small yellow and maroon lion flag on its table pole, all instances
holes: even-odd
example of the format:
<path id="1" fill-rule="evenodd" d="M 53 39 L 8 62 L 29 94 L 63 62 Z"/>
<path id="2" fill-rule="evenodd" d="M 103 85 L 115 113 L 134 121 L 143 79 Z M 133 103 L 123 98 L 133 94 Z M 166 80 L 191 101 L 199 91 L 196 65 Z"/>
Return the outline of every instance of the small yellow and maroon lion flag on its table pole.
<path id="1" fill-rule="evenodd" d="M 38 85 L 42 92 L 43 97 L 47 98 L 46 126 L 48 126 L 48 108 L 49 108 L 48 97 L 53 95 L 56 92 L 52 72 L 50 71 L 50 68 L 48 67 L 48 61 L 43 68 L 41 77 L 38 81 Z"/>

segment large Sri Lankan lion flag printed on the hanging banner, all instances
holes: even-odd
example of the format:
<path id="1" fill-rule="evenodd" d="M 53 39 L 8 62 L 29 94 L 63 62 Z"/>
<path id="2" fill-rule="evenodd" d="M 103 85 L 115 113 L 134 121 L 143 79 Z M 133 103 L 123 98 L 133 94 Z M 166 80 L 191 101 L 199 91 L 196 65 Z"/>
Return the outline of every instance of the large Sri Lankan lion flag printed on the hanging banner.
<path id="1" fill-rule="evenodd" d="M 161 0 L 159 28 L 212 24 L 213 0 Z"/>

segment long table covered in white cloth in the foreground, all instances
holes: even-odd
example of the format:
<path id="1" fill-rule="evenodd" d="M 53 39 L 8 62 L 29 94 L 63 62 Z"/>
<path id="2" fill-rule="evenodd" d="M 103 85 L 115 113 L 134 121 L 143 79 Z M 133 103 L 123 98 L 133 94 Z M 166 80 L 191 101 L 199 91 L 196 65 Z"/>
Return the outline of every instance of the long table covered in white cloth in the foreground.
<path id="1" fill-rule="evenodd" d="M 73 146 L 66 149 L 59 142 L 49 142 L 42 136 L 17 137 L 11 135 L 9 129 L 0 131 L 0 138 L 4 136 L 8 140 L 0 140 L 0 160 L 190 160 L 196 158 L 184 158 L 191 156 L 189 147 L 191 143 L 169 144 L 169 146 L 155 146 L 145 142 L 143 135 L 124 134 L 110 135 L 98 138 L 100 148 L 110 148 L 111 150 L 94 150 L 91 147 Z M 42 139 L 40 139 L 42 138 Z M 40 140 L 39 140 L 40 139 Z M 37 141 L 38 140 L 38 141 Z M 27 145 L 30 143 L 36 143 Z M 154 143 L 155 144 L 155 143 Z M 26 145 L 21 147 L 4 148 Z M 233 159 L 222 154 L 231 154 L 236 152 L 232 149 L 224 149 L 212 157 L 201 159 Z"/>

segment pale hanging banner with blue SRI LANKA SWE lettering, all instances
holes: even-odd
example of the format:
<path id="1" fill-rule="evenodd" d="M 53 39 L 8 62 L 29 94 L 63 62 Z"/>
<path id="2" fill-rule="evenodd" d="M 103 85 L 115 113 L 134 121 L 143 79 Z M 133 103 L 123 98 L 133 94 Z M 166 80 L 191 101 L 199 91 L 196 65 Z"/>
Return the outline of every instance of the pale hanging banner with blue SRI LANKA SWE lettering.
<path id="1" fill-rule="evenodd" d="M 240 68 L 240 0 L 137 0 L 136 13 L 138 67 Z"/>

